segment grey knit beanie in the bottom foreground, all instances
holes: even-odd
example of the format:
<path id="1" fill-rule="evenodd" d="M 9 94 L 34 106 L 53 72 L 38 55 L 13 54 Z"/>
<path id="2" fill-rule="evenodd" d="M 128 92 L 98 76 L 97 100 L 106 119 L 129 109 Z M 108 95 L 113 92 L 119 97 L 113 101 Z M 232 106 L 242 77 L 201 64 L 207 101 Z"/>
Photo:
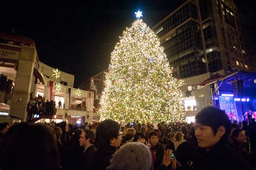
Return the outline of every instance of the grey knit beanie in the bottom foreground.
<path id="1" fill-rule="evenodd" d="M 129 142 L 114 153 L 110 166 L 106 169 L 149 170 L 151 167 L 151 152 L 140 142 Z"/>

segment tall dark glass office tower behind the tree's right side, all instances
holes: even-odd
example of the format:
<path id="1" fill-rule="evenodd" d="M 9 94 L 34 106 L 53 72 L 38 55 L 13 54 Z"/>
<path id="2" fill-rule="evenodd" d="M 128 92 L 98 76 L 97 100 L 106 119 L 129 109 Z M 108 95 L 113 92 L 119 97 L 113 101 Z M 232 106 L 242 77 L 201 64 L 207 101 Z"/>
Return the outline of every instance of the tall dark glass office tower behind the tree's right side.
<path id="1" fill-rule="evenodd" d="M 178 78 L 249 69 L 237 7 L 231 0 L 186 1 L 153 30 Z"/>

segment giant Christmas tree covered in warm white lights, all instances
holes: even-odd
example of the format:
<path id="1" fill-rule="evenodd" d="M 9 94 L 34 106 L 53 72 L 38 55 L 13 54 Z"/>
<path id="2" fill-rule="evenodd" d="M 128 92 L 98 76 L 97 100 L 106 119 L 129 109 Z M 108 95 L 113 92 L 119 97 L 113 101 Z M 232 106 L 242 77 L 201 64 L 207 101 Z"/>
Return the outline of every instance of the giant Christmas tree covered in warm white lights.
<path id="1" fill-rule="evenodd" d="M 100 119 L 131 123 L 185 120 L 179 88 L 157 35 L 137 19 L 111 53 Z"/>

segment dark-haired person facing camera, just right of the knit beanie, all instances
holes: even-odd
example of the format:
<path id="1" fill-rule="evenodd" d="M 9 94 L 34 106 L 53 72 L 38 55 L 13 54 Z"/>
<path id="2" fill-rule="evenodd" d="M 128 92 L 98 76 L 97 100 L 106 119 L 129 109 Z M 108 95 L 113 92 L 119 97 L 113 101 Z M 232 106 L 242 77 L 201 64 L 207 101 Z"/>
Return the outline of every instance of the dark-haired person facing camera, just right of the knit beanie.
<path id="1" fill-rule="evenodd" d="M 151 152 L 153 153 L 153 167 L 154 169 L 158 169 L 163 162 L 163 156 L 164 156 L 164 148 L 163 146 L 158 142 L 159 141 L 159 135 L 156 131 L 152 131 L 149 133 L 149 143 L 151 145 Z"/>

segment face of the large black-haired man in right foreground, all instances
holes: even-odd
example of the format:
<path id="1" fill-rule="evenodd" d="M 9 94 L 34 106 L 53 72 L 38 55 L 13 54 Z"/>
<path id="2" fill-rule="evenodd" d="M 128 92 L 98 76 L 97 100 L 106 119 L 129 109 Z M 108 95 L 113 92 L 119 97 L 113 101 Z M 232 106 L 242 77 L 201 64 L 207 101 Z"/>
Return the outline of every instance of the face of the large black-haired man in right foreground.
<path id="1" fill-rule="evenodd" d="M 206 150 L 212 148 L 221 138 L 218 132 L 214 135 L 214 132 L 210 126 L 196 123 L 195 129 L 198 146 L 206 148 Z"/>

